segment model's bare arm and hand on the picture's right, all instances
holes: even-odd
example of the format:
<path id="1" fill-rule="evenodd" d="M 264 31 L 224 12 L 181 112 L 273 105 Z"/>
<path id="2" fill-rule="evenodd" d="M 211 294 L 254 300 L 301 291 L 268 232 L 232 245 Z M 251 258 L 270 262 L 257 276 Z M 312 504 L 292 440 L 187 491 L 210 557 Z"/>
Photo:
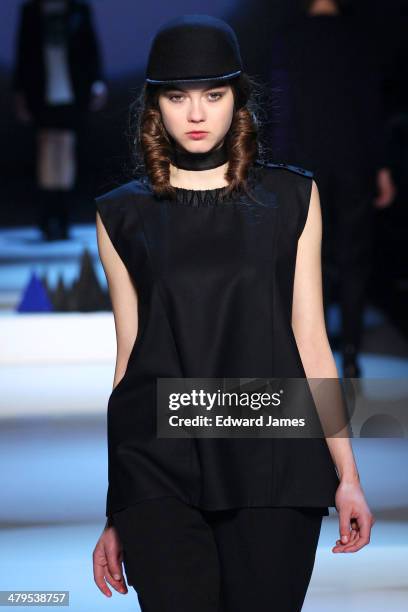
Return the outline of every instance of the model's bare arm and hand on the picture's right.
<path id="1" fill-rule="evenodd" d="M 298 241 L 293 289 L 292 328 L 307 378 L 338 378 L 324 321 L 321 274 L 322 216 L 320 198 L 313 181 L 309 213 Z M 350 439 L 347 436 L 326 438 L 336 465 L 340 486 L 336 505 L 340 512 L 340 534 L 349 536 L 350 518 L 362 518 L 362 535 L 358 550 L 369 542 L 374 520 L 365 502 Z M 353 534 L 352 534 L 353 535 Z M 340 550 L 335 547 L 334 551 Z"/>

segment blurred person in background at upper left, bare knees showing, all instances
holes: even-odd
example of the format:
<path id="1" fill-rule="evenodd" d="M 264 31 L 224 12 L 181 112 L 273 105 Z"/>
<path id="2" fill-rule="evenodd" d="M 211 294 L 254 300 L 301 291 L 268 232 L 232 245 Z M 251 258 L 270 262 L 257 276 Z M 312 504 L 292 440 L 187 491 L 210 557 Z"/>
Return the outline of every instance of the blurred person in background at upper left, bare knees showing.
<path id="1" fill-rule="evenodd" d="M 37 137 L 38 225 L 46 240 L 68 239 L 78 131 L 107 97 L 91 7 L 29 0 L 21 7 L 16 43 L 15 112 Z"/>

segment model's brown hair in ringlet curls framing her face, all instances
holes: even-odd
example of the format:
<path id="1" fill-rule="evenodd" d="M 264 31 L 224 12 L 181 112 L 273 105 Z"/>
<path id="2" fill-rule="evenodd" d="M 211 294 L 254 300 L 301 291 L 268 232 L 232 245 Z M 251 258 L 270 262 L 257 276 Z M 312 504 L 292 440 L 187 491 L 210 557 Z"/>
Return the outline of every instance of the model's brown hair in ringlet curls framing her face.
<path id="1" fill-rule="evenodd" d="M 258 89 L 262 90 L 262 85 L 246 73 L 223 84 L 232 87 L 235 111 L 225 137 L 229 154 L 225 174 L 228 185 L 222 197 L 246 193 L 252 198 L 249 172 L 255 159 L 262 158 L 267 148 L 260 138 L 262 109 L 257 101 Z M 163 125 L 158 103 L 159 95 L 165 88 L 163 85 L 144 83 L 139 97 L 131 105 L 129 132 L 132 174 L 147 176 L 155 195 L 173 199 L 175 189 L 170 184 L 170 151 L 173 145 Z"/>

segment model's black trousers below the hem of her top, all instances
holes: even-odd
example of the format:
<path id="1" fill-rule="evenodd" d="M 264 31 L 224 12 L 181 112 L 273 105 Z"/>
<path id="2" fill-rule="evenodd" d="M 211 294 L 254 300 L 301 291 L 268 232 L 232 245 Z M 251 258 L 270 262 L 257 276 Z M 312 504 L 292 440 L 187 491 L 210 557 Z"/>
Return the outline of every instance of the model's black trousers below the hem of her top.
<path id="1" fill-rule="evenodd" d="M 142 612 L 297 612 L 312 575 L 319 509 L 200 510 L 175 497 L 113 515 Z"/>

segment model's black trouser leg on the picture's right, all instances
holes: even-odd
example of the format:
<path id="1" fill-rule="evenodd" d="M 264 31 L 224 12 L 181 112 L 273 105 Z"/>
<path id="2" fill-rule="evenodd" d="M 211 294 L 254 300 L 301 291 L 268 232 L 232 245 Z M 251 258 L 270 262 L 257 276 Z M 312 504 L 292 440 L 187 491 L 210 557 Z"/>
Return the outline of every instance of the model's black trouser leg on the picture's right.
<path id="1" fill-rule="evenodd" d="M 298 612 L 311 579 L 322 514 L 257 507 L 214 514 L 222 612 Z"/>

